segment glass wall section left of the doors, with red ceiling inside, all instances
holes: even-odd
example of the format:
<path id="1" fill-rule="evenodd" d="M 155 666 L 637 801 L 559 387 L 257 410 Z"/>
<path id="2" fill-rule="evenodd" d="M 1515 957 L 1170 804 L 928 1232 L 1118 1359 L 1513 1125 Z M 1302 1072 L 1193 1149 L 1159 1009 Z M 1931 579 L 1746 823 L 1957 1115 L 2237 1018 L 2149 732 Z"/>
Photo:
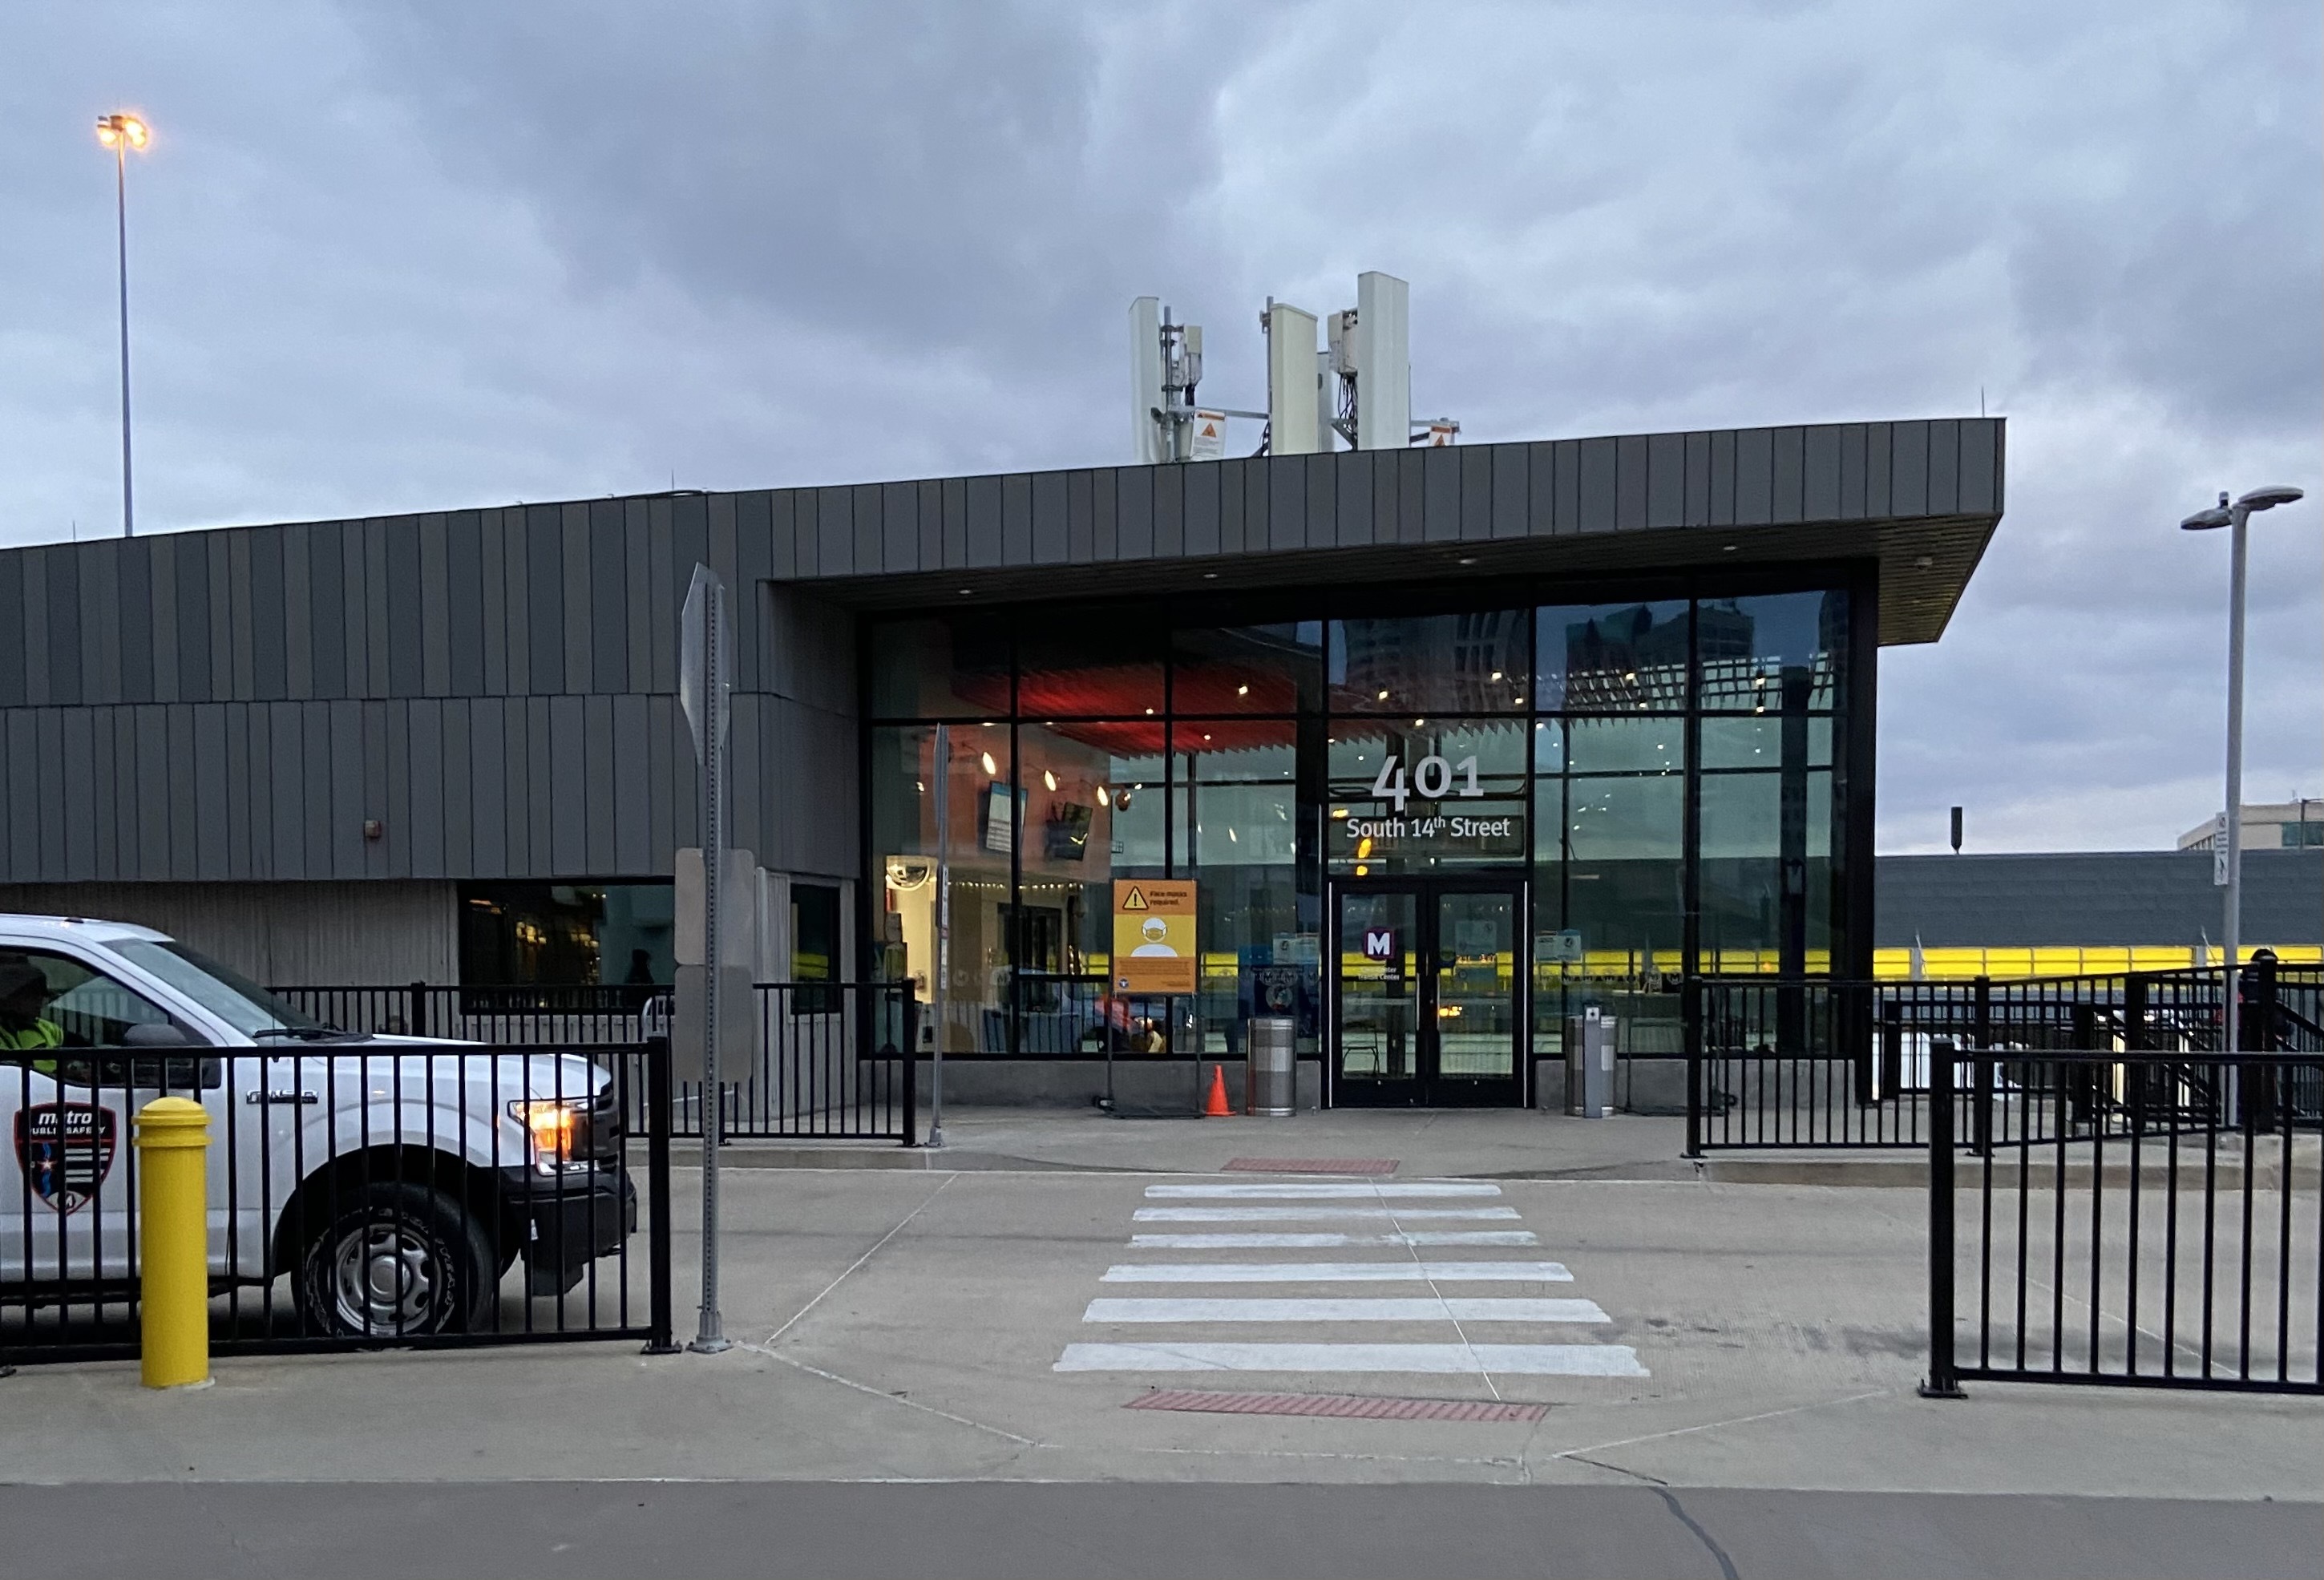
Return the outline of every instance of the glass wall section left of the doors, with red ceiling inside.
<path id="1" fill-rule="evenodd" d="M 941 623 L 878 627 L 876 709 L 955 718 L 953 971 L 946 1053 L 1032 1057 L 1241 1053 L 1250 1015 L 1320 1027 L 1315 785 L 1322 625 L 1185 627 L 1027 611 L 946 648 Z M 962 676 L 927 678 L 948 653 Z M 934 723 L 867 730 L 871 860 L 885 876 L 881 969 L 923 1001 L 934 971 Z M 985 760 L 990 755 L 990 762 Z M 1318 778 L 1320 783 L 1320 778 Z M 967 797 L 967 804 L 964 799 Z M 1116 971 L 1116 890 L 1192 881 L 1190 992 Z"/>

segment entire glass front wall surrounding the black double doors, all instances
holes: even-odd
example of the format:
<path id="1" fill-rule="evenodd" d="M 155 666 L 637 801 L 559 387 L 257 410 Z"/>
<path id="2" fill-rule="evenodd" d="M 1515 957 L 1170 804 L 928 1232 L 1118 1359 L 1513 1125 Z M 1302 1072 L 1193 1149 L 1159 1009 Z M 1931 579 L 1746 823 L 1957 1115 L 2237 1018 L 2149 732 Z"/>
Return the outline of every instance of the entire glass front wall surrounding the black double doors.
<path id="1" fill-rule="evenodd" d="M 1569 1013 L 1676 1053 L 1697 971 L 1824 974 L 1845 906 L 1848 590 L 1176 623 L 1164 604 L 871 627 L 867 797 L 890 978 L 934 969 L 930 783 L 951 725 L 946 1050 L 1313 1053 L 1327 878 L 1522 876 L 1536 1055 Z M 1116 885 L 1197 885 L 1195 990 L 1129 994 Z M 1692 962 L 1687 950 L 1694 950 Z M 1483 974 L 1487 962 L 1464 962 Z M 1483 981 L 1483 976 L 1478 976 Z"/>

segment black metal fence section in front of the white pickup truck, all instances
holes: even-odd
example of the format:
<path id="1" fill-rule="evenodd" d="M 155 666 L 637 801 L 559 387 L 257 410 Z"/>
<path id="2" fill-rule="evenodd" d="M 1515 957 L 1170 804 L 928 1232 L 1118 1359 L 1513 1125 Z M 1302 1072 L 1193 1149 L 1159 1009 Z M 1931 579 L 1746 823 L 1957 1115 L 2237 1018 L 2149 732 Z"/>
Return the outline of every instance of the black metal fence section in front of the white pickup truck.
<path id="1" fill-rule="evenodd" d="M 669 1348 L 667 1041 L 14 1050 L 0 1364 L 132 1357 L 156 1097 L 209 1111 L 211 1348 Z"/>

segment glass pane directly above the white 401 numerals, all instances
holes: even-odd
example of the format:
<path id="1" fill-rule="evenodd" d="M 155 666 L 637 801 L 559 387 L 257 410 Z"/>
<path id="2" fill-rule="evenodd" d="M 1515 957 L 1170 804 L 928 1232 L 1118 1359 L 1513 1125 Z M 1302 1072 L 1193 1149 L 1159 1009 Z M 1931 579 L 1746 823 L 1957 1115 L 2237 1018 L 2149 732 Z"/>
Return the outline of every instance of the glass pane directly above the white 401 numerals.
<path id="1" fill-rule="evenodd" d="M 1532 699 L 1525 609 L 1332 620 L 1334 713 L 1504 713 Z"/>

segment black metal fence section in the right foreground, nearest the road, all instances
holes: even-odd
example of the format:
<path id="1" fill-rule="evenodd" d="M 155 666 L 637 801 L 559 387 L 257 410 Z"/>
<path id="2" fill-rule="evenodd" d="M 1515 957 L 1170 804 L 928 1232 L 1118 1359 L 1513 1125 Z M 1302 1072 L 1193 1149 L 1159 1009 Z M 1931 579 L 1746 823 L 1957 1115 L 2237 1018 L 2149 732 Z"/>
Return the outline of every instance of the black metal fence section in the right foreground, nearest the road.
<path id="1" fill-rule="evenodd" d="M 1922 1392 L 2324 1392 L 2324 1139 L 2298 1099 L 2319 1076 L 2315 1053 L 1938 1041 Z M 1964 1139 L 1968 1111 L 1987 1122 Z"/>

